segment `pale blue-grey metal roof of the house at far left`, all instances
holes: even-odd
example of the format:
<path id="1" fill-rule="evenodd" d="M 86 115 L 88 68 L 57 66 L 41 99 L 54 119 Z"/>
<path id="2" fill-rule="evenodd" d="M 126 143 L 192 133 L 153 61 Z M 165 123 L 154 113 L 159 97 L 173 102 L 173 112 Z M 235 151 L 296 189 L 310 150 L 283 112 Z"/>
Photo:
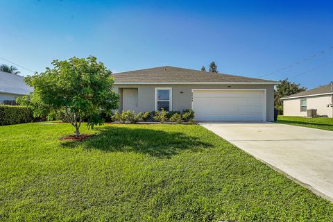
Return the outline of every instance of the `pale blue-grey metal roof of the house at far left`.
<path id="1" fill-rule="evenodd" d="M 33 92 L 24 82 L 24 77 L 0 71 L 0 93 L 27 95 Z"/>

